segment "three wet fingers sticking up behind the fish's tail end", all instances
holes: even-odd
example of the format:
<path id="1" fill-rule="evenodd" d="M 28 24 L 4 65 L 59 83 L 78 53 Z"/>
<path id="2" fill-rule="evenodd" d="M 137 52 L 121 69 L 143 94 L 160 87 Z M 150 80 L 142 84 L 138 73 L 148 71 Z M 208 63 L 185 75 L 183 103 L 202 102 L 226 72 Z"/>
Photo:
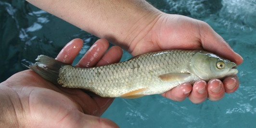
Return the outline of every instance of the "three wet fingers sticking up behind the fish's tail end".
<path id="1" fill-rule="evenodd" d="M 60 51 L 56 60 L 72 64 L 75 57 L 81 50 L 83 45 L 83 40 L 76 38 L 71 40 L 65 45 L 65 47 Z M 78 67 L 92 67 L 100 66 L 105 64 L 117 63 L 120 61 L 123 51 L 118 46 L 113 46 L 110 50 L 104 55 L 107 51 L 109 43 L 106 39 L 98 39 L 88 50 L 88 52 L 82 57 L 76 66 Z M 103 56 L 103 57 L 102 57 Z"/>

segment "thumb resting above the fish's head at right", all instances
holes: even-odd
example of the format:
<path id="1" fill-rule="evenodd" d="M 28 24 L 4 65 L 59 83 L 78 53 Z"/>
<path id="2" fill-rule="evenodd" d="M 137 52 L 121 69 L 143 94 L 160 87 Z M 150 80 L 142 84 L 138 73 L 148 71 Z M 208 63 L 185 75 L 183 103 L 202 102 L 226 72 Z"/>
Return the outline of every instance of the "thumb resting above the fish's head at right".
<path id="1" fill-rule="evenodd" d="M 220 37 L 208 24 L 198 21 L 202 46 L 206 51 L 216 53 L 236 64 L 241 64 L 243 58 L 234 52 L 230 45 Z"/>

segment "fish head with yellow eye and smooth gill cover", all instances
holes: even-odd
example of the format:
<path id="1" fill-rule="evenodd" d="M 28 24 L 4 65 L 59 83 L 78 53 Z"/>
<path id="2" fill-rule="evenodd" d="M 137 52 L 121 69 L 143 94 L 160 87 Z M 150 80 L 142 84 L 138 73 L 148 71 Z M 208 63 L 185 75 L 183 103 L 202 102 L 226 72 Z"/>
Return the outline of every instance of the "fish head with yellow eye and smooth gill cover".
<path id="1" fill-rule="evenodd" d="M 198 51 L 192 57 L 192 73 L 204 80 L 222 79 L 238 73 L 237 65 L 207 51 Z"/>

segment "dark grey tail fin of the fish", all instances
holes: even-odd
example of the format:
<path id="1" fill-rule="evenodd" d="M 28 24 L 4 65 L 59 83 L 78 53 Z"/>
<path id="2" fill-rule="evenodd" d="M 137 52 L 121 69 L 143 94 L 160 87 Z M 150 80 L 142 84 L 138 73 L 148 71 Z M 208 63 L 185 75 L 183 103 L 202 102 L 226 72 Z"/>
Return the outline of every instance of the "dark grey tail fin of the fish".
<path id="1" fill-rule="evenodd" d="M 58 84 L 59 70 L 61 66 L 66 65 L 46 55 L 38 55 L 35 64 L 29 65 L 29 68 L 41 77 L 49 80 L 54 84 Z"/>

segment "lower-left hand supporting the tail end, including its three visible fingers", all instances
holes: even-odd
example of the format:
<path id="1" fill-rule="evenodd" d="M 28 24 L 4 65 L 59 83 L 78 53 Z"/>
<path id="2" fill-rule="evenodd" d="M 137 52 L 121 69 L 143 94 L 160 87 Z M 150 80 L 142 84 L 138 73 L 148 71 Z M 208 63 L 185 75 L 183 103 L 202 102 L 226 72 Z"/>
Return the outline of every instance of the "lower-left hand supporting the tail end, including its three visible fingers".
<path id="1" fill-rule="evenodd" d="M 72 64 L 82 45 L 81 39 L 70 41 L 56 60 Z M 76 66 L 119 62 L 121 48 L 114 46 L 105 53 L 108 46 L 107 40 L 97 40 Z M 0 100 L 2 127 L 117 127 L 111 120 L 99 117 L 113 98 L 90 97 L 80 89 L 56 86 L 32 70 L 16 73 L 2 82 Z"/>

